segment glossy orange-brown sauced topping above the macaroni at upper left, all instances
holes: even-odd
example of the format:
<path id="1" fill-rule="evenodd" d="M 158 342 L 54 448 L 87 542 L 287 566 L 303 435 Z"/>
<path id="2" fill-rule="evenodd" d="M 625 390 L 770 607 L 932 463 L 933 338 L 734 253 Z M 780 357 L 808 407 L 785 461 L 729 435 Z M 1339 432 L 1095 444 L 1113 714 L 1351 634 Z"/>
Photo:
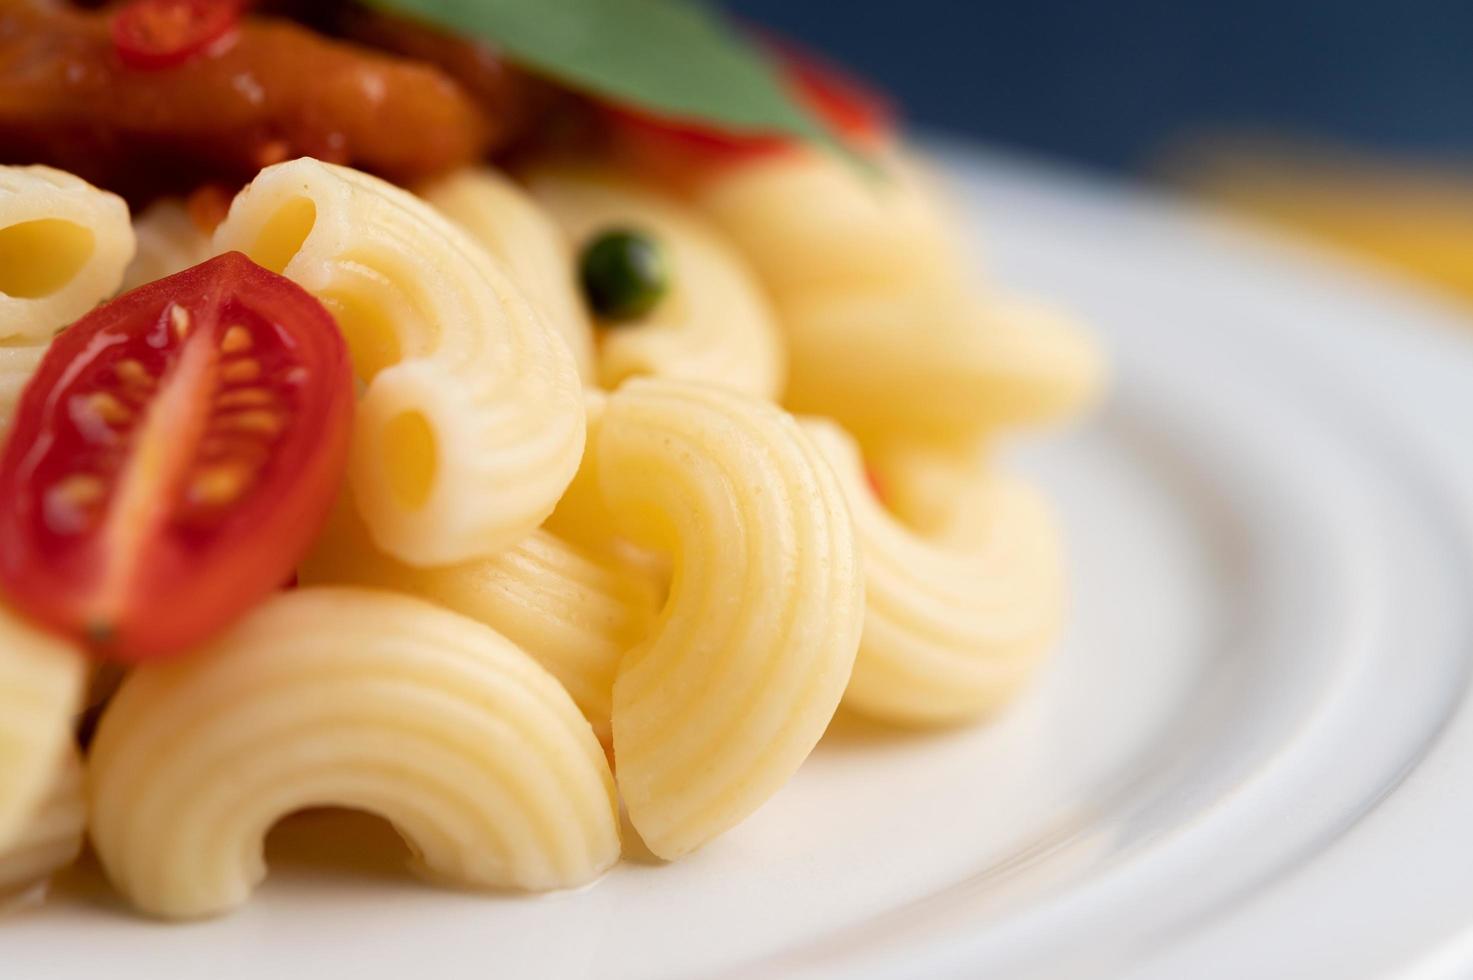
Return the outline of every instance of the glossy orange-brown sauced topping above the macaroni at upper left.
<path id="1" fill-rule="evenodd" d="M 136 200 L 303 155 L 412 183 L 505 144 L 532 85 L 482 53 L 471 94 L 433 63 L 268 18 L 224 50 L 141 71 L 109 16 L 0 0 L 0 162 L 47 162 Z"/>

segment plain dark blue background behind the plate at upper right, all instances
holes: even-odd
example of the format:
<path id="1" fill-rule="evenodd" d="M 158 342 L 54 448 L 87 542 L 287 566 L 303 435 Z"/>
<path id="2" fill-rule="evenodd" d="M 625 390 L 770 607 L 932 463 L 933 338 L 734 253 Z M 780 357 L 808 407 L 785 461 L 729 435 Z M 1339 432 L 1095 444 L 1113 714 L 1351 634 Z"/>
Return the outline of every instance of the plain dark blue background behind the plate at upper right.
<path id="1" fill-rule="evenodd" d="M 1473 0 L 731 0 L 916 122 L 1114 168 L 1199 131 L 1473 156 Z"/>

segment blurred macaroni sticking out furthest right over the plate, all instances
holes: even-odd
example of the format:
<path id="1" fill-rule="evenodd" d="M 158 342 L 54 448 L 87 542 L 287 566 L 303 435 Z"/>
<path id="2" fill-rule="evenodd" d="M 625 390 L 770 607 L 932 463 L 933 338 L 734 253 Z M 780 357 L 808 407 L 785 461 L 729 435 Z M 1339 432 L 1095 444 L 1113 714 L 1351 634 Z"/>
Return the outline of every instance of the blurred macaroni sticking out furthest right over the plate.
<path id="1" fill-rule="evenodd" d="M 792 411 L 843 423 L 868 447 L 977 444 L 1066 419 L 1103 382 L 1072 320 L 952 290 L 812 293 L 785 307 Z"/>

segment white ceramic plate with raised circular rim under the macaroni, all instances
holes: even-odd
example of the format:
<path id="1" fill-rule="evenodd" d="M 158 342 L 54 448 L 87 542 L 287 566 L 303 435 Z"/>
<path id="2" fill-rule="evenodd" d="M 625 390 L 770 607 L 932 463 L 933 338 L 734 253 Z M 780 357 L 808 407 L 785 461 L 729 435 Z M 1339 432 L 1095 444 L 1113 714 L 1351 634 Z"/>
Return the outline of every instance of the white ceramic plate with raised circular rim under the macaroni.
<path id="1" fill-rule="evenodd" d="M 841 719 L 717 844 L 573 895 L 435 892 L 382 827 L 298 819 L 243 912 L 161 927 L 74 881 L 0 924 L 0 974 L 1469 976 L 1473 330 L 1156 197 L 943 156 L 990 274 L 1118 365 L 1093 426 L 1013 460 L 1075 579 L 1024 703 Z"/>

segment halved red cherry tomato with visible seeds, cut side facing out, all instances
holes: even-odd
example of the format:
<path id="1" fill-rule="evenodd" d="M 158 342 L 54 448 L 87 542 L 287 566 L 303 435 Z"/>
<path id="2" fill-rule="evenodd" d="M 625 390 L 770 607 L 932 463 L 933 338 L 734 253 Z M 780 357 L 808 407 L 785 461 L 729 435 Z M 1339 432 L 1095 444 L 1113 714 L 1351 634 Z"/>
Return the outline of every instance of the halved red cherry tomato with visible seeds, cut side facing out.
<path id="1" fill-rule="evenodd" d="M 99 307 L 0 451 L 0 592 L 118 660 L 205 640 L 321 529 L 352 407 L 331 315 L 240 252 Z"/>

